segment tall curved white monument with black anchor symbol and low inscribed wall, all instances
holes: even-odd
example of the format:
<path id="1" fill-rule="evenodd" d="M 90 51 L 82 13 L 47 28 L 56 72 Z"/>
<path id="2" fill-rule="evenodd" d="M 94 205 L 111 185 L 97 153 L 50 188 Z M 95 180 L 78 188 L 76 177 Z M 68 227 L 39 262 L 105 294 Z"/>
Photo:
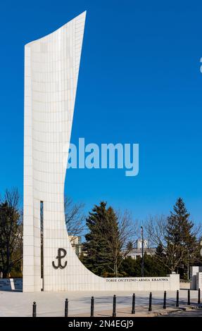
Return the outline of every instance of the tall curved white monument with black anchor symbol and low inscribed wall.
<path id="1" fill-rule="evenodd" d="M 179 289 L 179 275 L 96 276 L 70 244 L 64 213 L 65 165 L 85 16 L 84 12 L 25 45 L 23 291 Z"/>

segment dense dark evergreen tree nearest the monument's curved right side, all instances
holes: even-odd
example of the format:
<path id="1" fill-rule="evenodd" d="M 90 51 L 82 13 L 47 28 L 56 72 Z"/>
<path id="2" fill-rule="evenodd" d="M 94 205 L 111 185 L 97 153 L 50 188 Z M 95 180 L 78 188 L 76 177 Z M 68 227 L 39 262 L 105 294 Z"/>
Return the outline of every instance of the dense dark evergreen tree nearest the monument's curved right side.
<path id="1" fill-rule="evenodd" d="M 87 218 L 89 232 L 85 235 L 82 262 L 96 275 L 118 275 L 120 241 L 118 218 L 113 208 L 101 201 Z"/>

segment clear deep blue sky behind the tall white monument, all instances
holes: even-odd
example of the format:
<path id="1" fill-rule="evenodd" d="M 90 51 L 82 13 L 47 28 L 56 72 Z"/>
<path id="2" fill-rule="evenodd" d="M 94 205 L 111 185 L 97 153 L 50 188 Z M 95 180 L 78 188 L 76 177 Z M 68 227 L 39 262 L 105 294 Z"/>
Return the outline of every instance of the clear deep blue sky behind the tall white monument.
<path id="1" fill-rule="evenodd" d="M 23 194 L 24 45 L 85 10 L 71 142 L 139 143 L 139 175 L 70 169 L 66 193 L 139 219 L 182 196 L 201 222 L 201 1 L 1 1 L 0 192 Z"/>

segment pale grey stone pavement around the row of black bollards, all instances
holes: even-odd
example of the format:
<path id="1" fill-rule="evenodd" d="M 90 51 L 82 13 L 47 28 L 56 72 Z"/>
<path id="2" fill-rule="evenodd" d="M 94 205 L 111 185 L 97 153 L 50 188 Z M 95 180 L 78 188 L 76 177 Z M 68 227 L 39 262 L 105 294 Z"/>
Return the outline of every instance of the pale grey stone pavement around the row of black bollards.
<path id="1" fill-rule="evenodd" d="M 37 302 L 37 316 L 63 316 L 65 298 L 69 300 L 69 316 L 89 316 L 91 296 L 94 296 L 95 316 L 111 316 L 113 294 L 117 295 L 118 316 L 132 316 L 132 293 L 129 292 L 0 292 L 0 316 L 32 316 L 32 303 Z M 202 316 L 202 310 L 187 307 L 187 290 L 179 292 L 179 308 L 175 307 L 176 292 L 167 292 L 167 309 L 163 309 L 163 292 L 153 292 L 153 311 L 148 312 L 149 292 L 136 293 L 135 316 Z M 191 308 L 196 308 L 198 292 L 191 291 Z M 184 309 L 189 311 L 184 311 Z M 183 309 L 183 310 L 182 310 Z M 169 316 L 169 315 L 166 315 Z"/>

